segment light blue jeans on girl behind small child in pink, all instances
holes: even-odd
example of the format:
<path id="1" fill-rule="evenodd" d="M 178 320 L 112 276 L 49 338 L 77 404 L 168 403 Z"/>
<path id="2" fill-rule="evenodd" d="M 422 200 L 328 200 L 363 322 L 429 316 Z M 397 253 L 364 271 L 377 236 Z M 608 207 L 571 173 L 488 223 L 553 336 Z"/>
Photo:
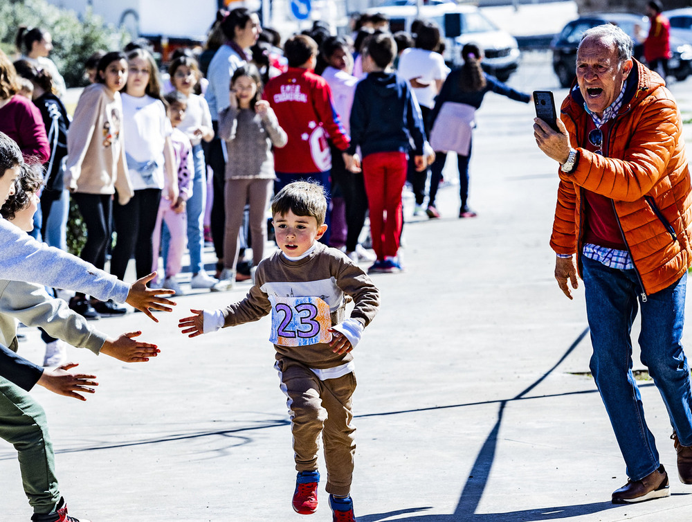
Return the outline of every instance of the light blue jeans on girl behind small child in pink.
<path id="1" fill-rule="evenodd" d="M 204 269 L 202 250 L 204 249 L 204 205 L 207 201 L 207 167 L 204 162 L 202 145 L 192 147 L 194 161 L 194 178 L 192 179 L 192 196 L 188 199 L 185 210 L 188 213 L 188 250 L 190 251 L 190 272 L 199 273 Z M 170 231 L 163 224 L 161 253 L 163 264 L 168 259 L 168 242 Z"/>

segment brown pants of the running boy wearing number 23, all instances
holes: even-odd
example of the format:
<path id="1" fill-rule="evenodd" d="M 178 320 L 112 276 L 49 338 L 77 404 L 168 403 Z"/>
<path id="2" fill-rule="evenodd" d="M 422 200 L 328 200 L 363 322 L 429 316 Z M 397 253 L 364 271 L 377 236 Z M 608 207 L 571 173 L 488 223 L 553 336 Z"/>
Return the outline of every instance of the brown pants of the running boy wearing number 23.
<path id="1" fill-rule="evenodd" d="M 356 389 L 353 372 L 320 381 L 302 363 L 277 361 L 281 388 L 291 415 L 293 451 L 297 471 L 317 469 L 318 438 L 322 433 L 327 463 L 327 492 L 346 496 L 351 489 L 356 443 L 352 425 L 352 396 Z"/>

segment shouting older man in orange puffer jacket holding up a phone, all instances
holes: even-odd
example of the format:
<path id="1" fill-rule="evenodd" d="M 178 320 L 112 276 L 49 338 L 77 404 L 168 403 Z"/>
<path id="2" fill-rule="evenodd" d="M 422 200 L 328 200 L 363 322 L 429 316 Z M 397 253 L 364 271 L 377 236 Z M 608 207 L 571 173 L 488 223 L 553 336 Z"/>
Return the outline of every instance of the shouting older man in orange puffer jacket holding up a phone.
<path id="1" fill-rule="evenodd" d="M 612 502 L 646 501 L 670 493 L 632 376 L 637 301 L 641 362 L 668 409 L 680 480 L 692 484 L 692 390 L 680 341 L 692 261 L 682 121 L 664 80 L 632 59 L 632 41 L 616 26 L 586 31 L 576 75 L 559 132 L 534 123 L 538 147 L 561 165 L 555 278 L 570 299 L 577 265 L 584 280 L 590 367 L 629 478 Z"/>

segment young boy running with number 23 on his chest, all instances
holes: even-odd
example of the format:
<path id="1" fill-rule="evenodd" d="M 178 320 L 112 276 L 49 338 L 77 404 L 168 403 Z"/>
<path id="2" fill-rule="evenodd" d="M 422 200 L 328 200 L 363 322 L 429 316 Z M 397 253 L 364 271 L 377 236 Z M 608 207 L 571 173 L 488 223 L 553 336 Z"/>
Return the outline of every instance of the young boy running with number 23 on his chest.
<path id="1" fill-rule="evenodd" d="M 271 205 L 280 251 L 257 266 L 255 285 L 239 303 L 219 310 L 191 310 L 179 327 L 190 337 L 272 314 L 275 368 L 288 397 L 298 470 L 293 509 L 317 509 L 318 438 L 327 463 L 327 492 L 334 521 L 355 521 L 349 495 L 356 449 L 351 350 L 379 309 L 379 291 L 347 256 L 318 240 L 327 230 L 322 187 L 298 181 Z M 346 317 L 346 296 L 354 309 Z M 326 415 L 325 415 L 326 410 Z"/>

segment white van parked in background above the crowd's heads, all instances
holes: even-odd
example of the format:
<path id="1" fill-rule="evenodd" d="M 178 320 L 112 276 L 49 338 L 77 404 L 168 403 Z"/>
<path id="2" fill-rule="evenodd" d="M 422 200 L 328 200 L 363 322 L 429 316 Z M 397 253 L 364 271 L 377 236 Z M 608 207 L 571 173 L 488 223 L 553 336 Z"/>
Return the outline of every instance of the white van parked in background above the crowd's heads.
<path id="1" fill-rule="evenodd" d="M 415 5 L 381 6 L 367 12 L 380 12 L 388 17 L 392 33 L 410 31 L 417 18 L 435 22 L 446 43 L 444 58 L 450 64 L 461 64 L 462 47 L 473 43 L 484 50 L 483 69 L 501 82 L 506 82 L 518 67 L 520 52 L 516 39 L 496 27 L 475 6 L 449 2 L 420 8 Z"/>

